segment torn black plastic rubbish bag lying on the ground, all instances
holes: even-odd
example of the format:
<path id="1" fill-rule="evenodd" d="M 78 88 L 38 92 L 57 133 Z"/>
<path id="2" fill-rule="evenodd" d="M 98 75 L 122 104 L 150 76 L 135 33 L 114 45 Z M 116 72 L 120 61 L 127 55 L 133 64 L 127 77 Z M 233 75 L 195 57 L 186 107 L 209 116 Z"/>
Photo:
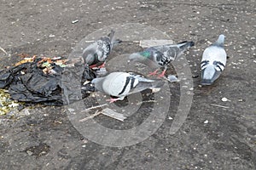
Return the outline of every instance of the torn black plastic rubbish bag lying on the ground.
<path id="1" fill-rule="evenodd" d="M 12 99 L 44 105 L 67 105 L 94 91 L 90 83 L 82 85 L 96 77 L 82 62 L 64 68 L 51 63 L 54 74 L 45 74 L 38 61 L 0 71 L 0 88 L 8 88 Z"/>

